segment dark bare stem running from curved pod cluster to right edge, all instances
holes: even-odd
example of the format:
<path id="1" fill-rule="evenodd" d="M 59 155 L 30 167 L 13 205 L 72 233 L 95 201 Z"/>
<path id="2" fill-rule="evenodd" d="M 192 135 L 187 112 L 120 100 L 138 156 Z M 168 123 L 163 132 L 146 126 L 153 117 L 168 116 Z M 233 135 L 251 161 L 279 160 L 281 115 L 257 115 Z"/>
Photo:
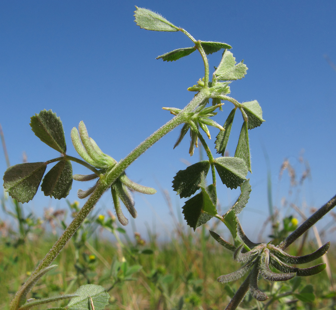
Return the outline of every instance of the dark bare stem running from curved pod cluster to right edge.
<path id="1" fill-rule="evenodd" d="M 284 250 L 290 244 L 292 244 L 297 238 L 299 238 L 304 232 L 312 227 L 319 219 L 326 215 L 336 205 L 336 195 L 331 198 L 325 205 L 311 215 L 306 221 L 304 221 L 300 227 L 293 231 L 285 240 L 283 240 L 278 248 Z"/>

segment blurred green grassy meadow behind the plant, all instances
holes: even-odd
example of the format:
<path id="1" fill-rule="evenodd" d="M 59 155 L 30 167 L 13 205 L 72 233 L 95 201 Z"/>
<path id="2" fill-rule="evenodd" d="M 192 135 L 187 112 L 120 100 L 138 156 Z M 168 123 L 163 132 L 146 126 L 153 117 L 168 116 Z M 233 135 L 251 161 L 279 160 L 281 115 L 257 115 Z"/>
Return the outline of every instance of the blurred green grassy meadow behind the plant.
<path id="1" fill-rule="evenodd" d="M 85 230 L 82 231 L 85 234 Z M 98 232 L 97 232 L 98 233 Z M 98 233 L 99 235 L 99 233 Z M 223 309 L 230 299 L 230 290 L 236 290 L 242 283 L 237 280 L 229 285 L 217 282 L 217 277 L 231 273 L 240 266 L 232 259 L 232 253 L 217 244 L 208 231 L 199 228 L 196 233 L 179 229 L 171 241 L 159 244 L 155 236 L 144 244 L 141 236 L 130 236 L 123 246 L 94 235 L 89 244 L 80 235 L 72 239 L 57 257 L 58 267 L 42 277 L 28 298 L 42 298 L 57 294 L 75 292 L 83 284 L 104 286 L 111 296 L 108 309 L 178 309 L 183 298 L 182 309 Z M 26 242 L 16 247 L 13 240 L 0 240 L 0 309 L 7 310 L 15 291 L 28 278 L 45 253 L 56 240 L 52 234 L 32 234 Z M 296 254 L 296 245 L 288 251 Z M 141 253 L 151 249 L 152 254 Z M 317 246 L 306 243 L 303 254 L 310 253 Z M 332 274 L 336 272 L 335 248 L 328 252 Z M 90 255 L 94 255 L 90 256 Z M 116 264 L 122 264 L 116 268 Z M 119 262 L 119 263 L 118 263 Z M 121 263 L 120 263 L 121 262 Z M 322 261 L 321 261 L 322 262 Z M 314 262 L 315 263 L 315 262 Z M 128 266 L 130 276 L 123 268 Z M 75 267 L 77 266 L 77 268 Z M 130 267 L 133 266 L 133 269 Z M 141 269 L 140 266 L 142 267 Z M 135 272 L 131 273 L 132 270 Z M 126 271 L 127 272 L 127 271 Z M 118 280 L 119 279 L 119 280 Z M 334 309 L 332 289 L 326 272 L 301 278 L 298 291 L 311 283 L 316 295 L 313 302 L 293 302 L 295 298 L 284 297 L 267 309 Z M 335 279 L 334 279 L 335 280 Z M 291 281 L 267 282 L 260 280 L 259 287 L 269 297 L 277 292 L 283 294 L 291 287 Z M 292 303 L 286 303 L 292 301 Z M 262 309 L 263 304 L 246 296 L 241 305 L 248 309 Z M 60 303 L 66 305 L 67 301 Z M 50 307 L 56 305 L 50 305 Z M 45 309 L 46 306 L 39 308 Z"/>

